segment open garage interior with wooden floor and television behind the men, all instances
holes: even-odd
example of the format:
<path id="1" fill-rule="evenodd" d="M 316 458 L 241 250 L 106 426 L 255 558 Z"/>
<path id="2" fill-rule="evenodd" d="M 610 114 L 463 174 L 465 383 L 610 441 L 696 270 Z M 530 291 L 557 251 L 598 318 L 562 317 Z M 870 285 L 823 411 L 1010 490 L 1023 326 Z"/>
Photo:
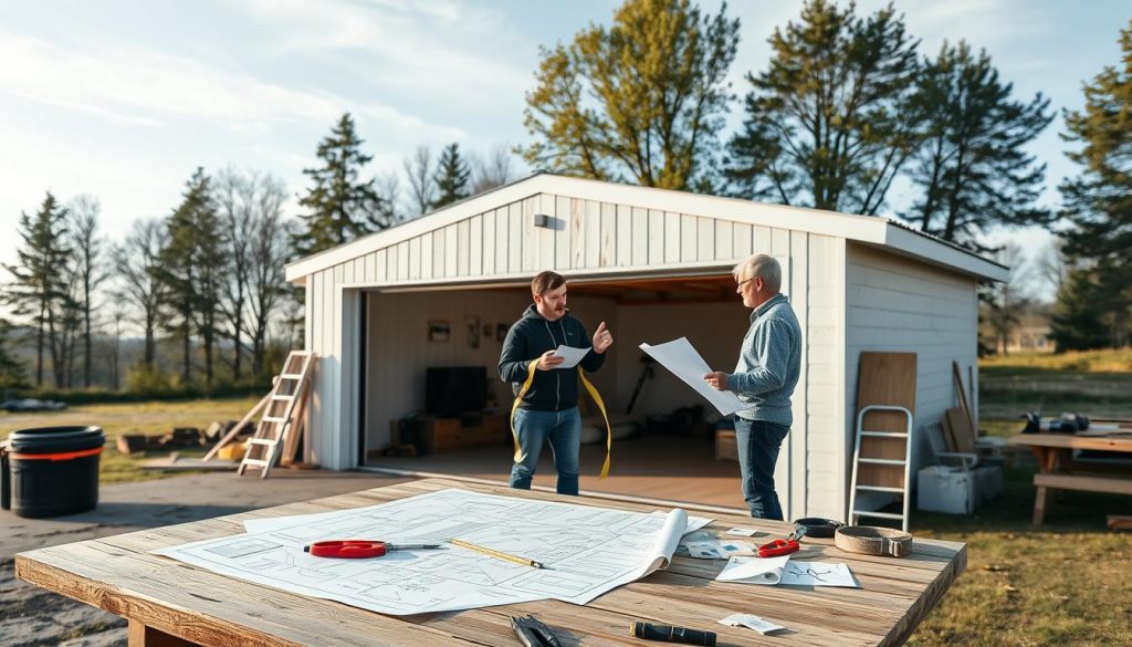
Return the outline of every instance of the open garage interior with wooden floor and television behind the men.
<path id="1" fill-rule="evenodd" d="M 638 349 L 641 342 L 686 337 L 710 367 L 734 369 L 751 310 L 735 293 L 730 273 L 571 280 L 567 298 L 589 334 L 604 321 L 615 338 L 606 365 L 589 375 L 616 429 L 612 468 L 608 478 L 598 478 L 606 433 L 599 410 L 584 397 L 583 492 L 745 509 L 738 462 L 717 458 L 734 456 L 727 439 L 717 446 L 719 412 L 667 369 L 643 361 L 646 356 Z M 499 381 L 497 365 L 503 337 L 531 303 L 528 283 L 367 291 L 362 469 L 506 483 L 513 397 L 509 385 Z M 429 410 L 436 409 L 437 398 L 429 401 L 428 392 L 437 382 L 468 375 L 451 372 L 444 377 L 449 367 L 484 369 L 482 410 Z M 696 406 L 702 406 L 700 416 Z M 555 479 L 550 449 L 544 446 L 534 485 L 554 489 Z"/>

